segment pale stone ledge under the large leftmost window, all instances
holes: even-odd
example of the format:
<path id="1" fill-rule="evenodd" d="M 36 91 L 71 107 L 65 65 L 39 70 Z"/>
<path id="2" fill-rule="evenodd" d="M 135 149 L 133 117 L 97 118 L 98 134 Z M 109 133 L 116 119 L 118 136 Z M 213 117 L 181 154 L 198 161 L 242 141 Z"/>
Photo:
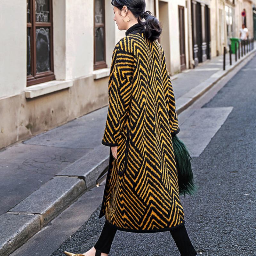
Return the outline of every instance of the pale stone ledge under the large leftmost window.
<path id="1" fill-rule="evenodd" d="M 41 84 L 28 86 L 25 89 L 25 97 L 27 99 L 35 98 L 47 93 L 60 91 L 62 89 L 69 88 L 73 85 L 71 80 L 53 80 Z"/>

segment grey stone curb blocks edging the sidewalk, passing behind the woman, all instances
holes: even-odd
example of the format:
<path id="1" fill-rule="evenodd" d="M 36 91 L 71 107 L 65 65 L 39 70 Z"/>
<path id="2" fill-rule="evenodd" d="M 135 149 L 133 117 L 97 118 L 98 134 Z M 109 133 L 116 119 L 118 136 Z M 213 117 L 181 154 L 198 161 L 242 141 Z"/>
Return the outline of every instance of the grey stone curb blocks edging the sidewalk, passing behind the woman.
<path id="1" fill-rule="evenodd" d="M 256 49 L 252 50 L 234 65 L 229 67 L 227 65 L 227 70 L 214 73 L 206 81 L 178 98 L 176 100 L 177 114 L 188 108 L 223 76 L 255 52 Z M 174 79 L 176 78 L 175 76 Z M 106 146 L 95 147 L 59 172 L 52 180 L 46 182 L 9 212 L 2 214 L 0 230 L 8 230 L 8 232 L 4 237 L 0 237 L 0 255 L 7 256 L 15 251 L 79 196 L 94 187 L 97 178 L 108 167 L 108 160 L 109 150 L 106 150 Z M 45 196 L 42 197 L 42 195 Z"/>

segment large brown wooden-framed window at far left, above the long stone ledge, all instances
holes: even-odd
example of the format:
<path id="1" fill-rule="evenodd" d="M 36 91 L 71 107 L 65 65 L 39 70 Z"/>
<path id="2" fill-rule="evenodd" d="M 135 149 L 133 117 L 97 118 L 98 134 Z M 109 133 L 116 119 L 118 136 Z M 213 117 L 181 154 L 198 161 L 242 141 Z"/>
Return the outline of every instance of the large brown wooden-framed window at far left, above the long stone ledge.
<path id="1" fill-rule="evenodd" d="M 54 80 L 52 0 L 27 0 L 27 86 Z"/>

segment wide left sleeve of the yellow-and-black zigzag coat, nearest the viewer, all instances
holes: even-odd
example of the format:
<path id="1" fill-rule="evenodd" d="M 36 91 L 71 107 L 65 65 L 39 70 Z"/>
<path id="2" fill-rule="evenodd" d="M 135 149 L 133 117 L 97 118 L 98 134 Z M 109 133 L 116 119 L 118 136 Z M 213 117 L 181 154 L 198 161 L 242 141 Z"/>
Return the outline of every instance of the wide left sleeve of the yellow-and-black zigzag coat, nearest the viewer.
<path id="1" fill-rule="evenodd" d="M 135 58 L 124 37 L 115 46 L 108 79 L 108 115 L 101 143 L 118 145 L 120 132 L 129 110 Z"/>

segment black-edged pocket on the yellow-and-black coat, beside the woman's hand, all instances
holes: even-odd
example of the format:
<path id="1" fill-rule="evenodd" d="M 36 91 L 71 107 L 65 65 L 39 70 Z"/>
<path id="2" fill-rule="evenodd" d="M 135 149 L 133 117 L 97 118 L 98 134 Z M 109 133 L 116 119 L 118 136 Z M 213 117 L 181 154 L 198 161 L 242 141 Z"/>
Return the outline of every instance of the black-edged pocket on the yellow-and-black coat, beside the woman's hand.
<path id="1" fill-rule="evenodd" d="M 129 147 L 129 129 L 126 127 L 126 133 L 122 133 L 121 139 L 117 146 L 117 166 L 118 175 L 123 175 L 127 168 L 128 158 L 128 147 Z"/>

